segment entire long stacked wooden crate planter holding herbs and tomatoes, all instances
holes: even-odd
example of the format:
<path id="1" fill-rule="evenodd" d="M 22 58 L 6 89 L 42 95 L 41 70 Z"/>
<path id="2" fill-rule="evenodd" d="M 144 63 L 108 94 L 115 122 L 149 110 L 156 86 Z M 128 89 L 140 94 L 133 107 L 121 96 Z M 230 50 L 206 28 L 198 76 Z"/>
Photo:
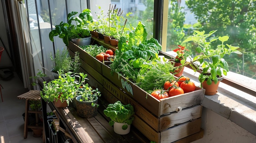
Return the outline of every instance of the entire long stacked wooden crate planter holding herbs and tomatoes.
<path id="1" fill-rule="evenodd" d="M 120 100 L 135 108 L 134 125 L 151 141 L 173 142 L 200 132 L 204 90 L 158 100 L 123 76 L 110 74 L 110 67 L 70 42 L 70 53 L 79 51 L 81 71 L 88 74 L 88 82 L 99 86 L 108 102 Z M 95 80 L 95 81 L 94 81 Z M 146 98 L 147 97 L 147 98 Z M 181 112 L 176 112 L 177 108 Z M 200 133 L 201 134 L 201 133 Z"/>

